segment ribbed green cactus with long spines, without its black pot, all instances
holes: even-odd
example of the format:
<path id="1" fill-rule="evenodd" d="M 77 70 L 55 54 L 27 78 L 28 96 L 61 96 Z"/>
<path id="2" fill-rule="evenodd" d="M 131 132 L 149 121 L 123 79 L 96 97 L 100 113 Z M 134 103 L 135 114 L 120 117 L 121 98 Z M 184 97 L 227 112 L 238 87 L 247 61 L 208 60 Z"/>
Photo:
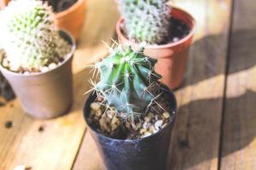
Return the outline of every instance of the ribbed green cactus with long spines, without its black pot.
<path id="1" fill-rule="evenodd" d="M 96 63 L 101 77 L 93 90 L 103 97 L 106 104 L 114 106 L 121 116 L 143 115 L 156 96 L 151 88 L 160 88 L 161 78 L 154 71 L 156 59 L 143 54 L 143 49 L 133 51 L 116 48 L 111 54 Z"/>

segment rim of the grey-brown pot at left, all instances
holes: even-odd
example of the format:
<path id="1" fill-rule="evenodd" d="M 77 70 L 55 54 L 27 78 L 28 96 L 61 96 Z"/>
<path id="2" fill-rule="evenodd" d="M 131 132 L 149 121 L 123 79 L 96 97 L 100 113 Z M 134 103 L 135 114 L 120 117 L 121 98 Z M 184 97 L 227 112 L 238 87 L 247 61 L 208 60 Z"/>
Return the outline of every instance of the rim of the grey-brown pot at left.
<path id="1" fill-rule="evenodd" d="M 35 73 L 30 73 L 29 75 L 24 75 L 24 74 L 21 74 L 19 72 L 9 71 L 7 68 L 3 67 L 3 65 L 0 63 L 0 71 L 3 71 L 3 72 L 5 72 L 9 75 L 16 76 L 16 77 L 37 77 L 37 76 L 44 75 L 44 74 L 47 74 L 49 72 L 55 71 L 56 69 L 58 69 L 62 65 L 65 65 L 67 63 L 67 61 L 73 57 L 73 54 L 74 54 L 75 49 L 76 49 L 76 43 L 74 41 L 74 38 L 67 31 L 59 30 L 58 32 L 63 32 L 64 34 L 66 34 L 67 37 L 70 38 L 71 45 L 72 45 L 71 51 L 66 55 L 65 60 L 61 62 L 61 65 L 58 65 L 57 67 L 55 67 L 54 69 L 50 69 L 49 71 L 35 72 Z"/>

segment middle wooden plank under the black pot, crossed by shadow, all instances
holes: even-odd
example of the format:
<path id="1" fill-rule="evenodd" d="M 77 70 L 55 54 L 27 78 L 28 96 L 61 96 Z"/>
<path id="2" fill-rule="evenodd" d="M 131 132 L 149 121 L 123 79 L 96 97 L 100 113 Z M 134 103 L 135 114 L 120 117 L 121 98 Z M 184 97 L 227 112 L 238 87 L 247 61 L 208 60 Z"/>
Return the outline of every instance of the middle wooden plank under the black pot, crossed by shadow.
<path id="1" fill-rule="evenodd" d="M 186 80 L 183 88 L 175 92 L 179 111 L 169 169 L 217 169 L 231 1 L 176 0 L 174 3 L 195 15 L 198 25 Z M 73 169 L 104 169 L 88 133 Z"/>

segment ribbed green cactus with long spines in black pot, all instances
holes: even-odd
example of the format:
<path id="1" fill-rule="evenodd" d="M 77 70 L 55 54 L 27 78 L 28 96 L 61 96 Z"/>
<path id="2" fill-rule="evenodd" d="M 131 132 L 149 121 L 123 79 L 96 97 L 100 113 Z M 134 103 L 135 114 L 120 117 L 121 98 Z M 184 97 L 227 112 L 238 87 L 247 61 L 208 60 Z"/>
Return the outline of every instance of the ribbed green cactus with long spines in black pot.
<path id="1" fill-rule="evenodd" d="M 93 67 L 99 82 L 91 82 L 84 119 L 107 169 L 165 169 L 177 104 L 154 71 L 156 59 L 143 48 L 110 50 Z"/>

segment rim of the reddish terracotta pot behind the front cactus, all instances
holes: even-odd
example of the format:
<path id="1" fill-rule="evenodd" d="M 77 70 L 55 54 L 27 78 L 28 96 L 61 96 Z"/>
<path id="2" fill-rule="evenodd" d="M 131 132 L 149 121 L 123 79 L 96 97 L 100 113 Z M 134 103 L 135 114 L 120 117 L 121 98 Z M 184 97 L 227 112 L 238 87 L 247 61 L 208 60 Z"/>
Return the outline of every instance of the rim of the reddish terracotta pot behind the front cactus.
<path id="1" fill-rule="evenodd" d="M 170 8 L 172 8 L 172 10 L 177 10 L 179 12 L 182 12 L 183 14 L 186 14 L 191 22 L 192 22 L 192 26 L 190 28 L 190 31 L 189 31 L 189 34 L 183 38 L 181 38 L 180 40 L 178 40 L 177 42 L 170 42 L 170 43 L 166 43 L 166 44 L 156 44 L 156 45 L 147 45 L 146 48 L 147 49 L 160 49 L 160 48 L 172 48 L 172 47 L 175 47 L 179 44 L 182 44 L 183 42 L 186 42 L 187 40 L 189 40 L 190 37 L 193 37 L 193 35 L 195 34 L 195 18 L 189 14 L 187 11 L 183 10 L 182 8 L 178 8 L 176 6 L 170 6 Z M 172 14 L 172 10 L 171 10 L 171 14 Z M 130 42 L 131 44 L 138 44 L 136 42 L 133 42 L 131 40 L 128 40 L 127 37 L 125 37 L 125 35 L 122 33 L 121 31 L 121 28 L 120 28 L 120 25 L 124 23 L 124 18 L 120 17 L 117 24 L 116 24 L 116 31 L 117 31 L 117 34 L 120 36 L 120 37 L 123 37 L 127 42 Z"/>

